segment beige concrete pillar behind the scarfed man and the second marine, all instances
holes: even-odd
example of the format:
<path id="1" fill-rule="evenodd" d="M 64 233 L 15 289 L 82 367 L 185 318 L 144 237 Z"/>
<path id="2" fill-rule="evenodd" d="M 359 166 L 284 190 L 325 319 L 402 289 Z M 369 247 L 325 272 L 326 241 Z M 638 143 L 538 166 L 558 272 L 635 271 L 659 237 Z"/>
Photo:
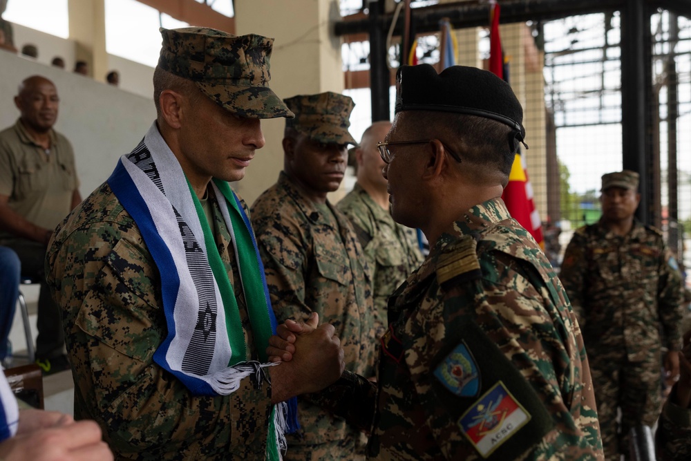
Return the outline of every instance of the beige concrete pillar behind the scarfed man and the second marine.
<path id="1" fill-rule="evenodd" d="M 332 32 L 332 24 L 341 18 L 336 0 L 236 0 L 235 15 L 237 35 L 275 39 L 269 86 L 279 97 L 343 92 L 341 39 Z M 283 118 L 262 122 L 266 145 L 256 153 L 245 179 L 234 184 L 249 204 L 283 169 L 284 127 Z"/>

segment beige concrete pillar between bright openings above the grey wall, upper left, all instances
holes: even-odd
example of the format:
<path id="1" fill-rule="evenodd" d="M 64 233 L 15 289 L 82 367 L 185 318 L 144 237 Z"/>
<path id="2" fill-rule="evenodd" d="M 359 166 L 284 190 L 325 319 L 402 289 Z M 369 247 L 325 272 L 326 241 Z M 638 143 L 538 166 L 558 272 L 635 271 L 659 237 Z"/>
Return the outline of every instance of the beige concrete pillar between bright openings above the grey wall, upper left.
<path id="1" fill-rule="evenodd" d="M 70 39 L 75 41 L 75 61 L 88 63 L 89 75 L 106 81 L 106 8 L 104 0 L 68 0 Z"/>

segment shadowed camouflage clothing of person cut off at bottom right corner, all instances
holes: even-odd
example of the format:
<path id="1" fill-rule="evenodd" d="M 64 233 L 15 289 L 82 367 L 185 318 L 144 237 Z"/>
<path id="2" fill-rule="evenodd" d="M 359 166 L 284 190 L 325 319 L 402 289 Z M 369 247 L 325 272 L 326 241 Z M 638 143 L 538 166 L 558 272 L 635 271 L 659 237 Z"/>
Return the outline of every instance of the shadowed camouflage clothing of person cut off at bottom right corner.
<path id="1" fill-rule="evenodd" d="M 662 414 L 655 431 L 655 445 L 660 461 L 685 461 L 691 459 L 691 410 L 670 402 L 662 407 Z"/>

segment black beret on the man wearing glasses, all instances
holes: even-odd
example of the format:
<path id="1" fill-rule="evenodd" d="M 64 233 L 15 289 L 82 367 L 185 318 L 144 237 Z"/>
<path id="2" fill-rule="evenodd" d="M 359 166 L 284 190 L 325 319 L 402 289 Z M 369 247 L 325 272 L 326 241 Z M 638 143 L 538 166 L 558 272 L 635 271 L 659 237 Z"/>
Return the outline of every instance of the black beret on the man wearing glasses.
<path id="1" fill-rule="evenodd" d="M 429 64 L 401 66 L 396 74 L 395 113 L 403 111 L 477 115 L 507 124 L 516 141 L 525 138 L 523 109 L 511 86 L 475 67 L 451 66 L 437 74 Z"/>

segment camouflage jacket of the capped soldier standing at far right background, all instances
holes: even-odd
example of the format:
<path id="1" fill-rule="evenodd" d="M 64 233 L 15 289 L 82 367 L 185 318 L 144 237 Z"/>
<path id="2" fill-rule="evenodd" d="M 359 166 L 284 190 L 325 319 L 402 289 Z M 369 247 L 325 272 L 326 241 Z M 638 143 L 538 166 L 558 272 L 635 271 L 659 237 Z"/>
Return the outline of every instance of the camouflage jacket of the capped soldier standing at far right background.
<path id="1" fill-rule="evenodd" d="M 589 350 L 625 346 L 630 361 L 641 361 L 661 344 L 681 348 L 681 275 L 658 230 L 634 222 L 617 236 L 602 220 L 581 227 L 560 279 Z"/>

